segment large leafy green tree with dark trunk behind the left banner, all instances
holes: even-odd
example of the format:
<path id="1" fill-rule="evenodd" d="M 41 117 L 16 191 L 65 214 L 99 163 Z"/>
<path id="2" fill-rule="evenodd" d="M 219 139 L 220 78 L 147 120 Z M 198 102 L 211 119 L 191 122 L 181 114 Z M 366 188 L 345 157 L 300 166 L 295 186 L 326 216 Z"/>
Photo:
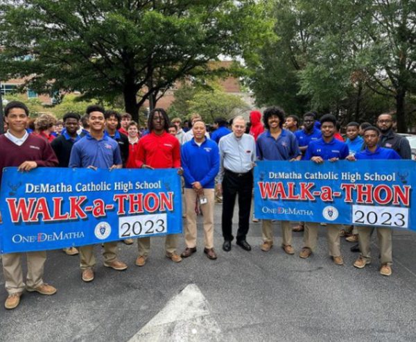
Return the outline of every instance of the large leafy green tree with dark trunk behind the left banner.
<path id="1" fill-rule="evenodd" d="M 37 92 L 123 96 L 137 120 L 175 80 L 214 72 L 218 55 L 252 55 L 269 34 L 259 1 L 26 0 L 0 6 L 0 78 Z"/>

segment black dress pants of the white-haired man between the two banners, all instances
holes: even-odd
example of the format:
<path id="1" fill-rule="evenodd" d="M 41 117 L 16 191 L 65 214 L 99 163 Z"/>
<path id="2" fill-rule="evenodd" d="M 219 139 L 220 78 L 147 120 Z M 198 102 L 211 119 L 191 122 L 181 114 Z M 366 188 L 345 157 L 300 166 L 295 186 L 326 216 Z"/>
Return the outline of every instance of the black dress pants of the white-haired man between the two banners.
<path id="1" fill-rule="evenodd" d="M 245 240 L 250 223 L 250 207 L 253 190 L 253 173 L 234 173 L 225 170 L 223 178 L 223 216 L 222 228 L 225 241 L 232 241 L 232 216 L 236 196 L 239 195 L 239 230 L 237 241 Z"/>

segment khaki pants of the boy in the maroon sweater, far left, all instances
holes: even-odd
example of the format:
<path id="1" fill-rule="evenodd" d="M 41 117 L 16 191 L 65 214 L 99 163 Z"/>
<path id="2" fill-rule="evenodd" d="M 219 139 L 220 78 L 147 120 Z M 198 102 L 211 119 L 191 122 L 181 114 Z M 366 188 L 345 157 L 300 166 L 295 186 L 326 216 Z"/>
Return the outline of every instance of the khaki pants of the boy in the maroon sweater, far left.
<path id="1" fill-rule="evenodd" d="M 4 254 L 2 257 L 3 274 L 6 281 L 6 291 L 9 295 L 21 293 L 25 289 L 23 281 L 23 270 L 21 268 L 21 257 L 23 253 Z M 46 261 L 46 252 L 26 253 L 28 273 L 26 275 L 26 286 L 35 289 L 43 284 L 42 276 Z"/>

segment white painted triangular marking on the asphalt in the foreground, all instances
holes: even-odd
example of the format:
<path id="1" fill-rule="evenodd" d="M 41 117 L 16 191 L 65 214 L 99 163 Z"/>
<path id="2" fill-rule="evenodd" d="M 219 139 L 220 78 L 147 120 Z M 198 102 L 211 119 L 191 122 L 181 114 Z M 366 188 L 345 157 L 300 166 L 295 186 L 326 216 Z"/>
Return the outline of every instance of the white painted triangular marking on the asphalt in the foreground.
<path id="1" fill-rule="evenodd" d="M 129 342 L 225 341 L 196 284 L 173 297 Z"/>

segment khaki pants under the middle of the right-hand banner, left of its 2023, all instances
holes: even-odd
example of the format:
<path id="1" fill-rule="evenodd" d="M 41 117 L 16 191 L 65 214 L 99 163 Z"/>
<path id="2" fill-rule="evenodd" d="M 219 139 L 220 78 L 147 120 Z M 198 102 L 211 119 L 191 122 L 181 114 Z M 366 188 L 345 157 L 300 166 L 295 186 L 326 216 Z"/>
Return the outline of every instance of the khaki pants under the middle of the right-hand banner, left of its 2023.
<path id="1" fill-rule="evenodd" d="M 304 230 L 304 247 L 315 250 L 320 226 L 319 223 L 306 222 Z M 329 255 L 331 255 L 331 257 L 340 257 L 340 225 L 327 223 L 327 225 L 324 226 L 324 229 L 327 230 Z"/>

